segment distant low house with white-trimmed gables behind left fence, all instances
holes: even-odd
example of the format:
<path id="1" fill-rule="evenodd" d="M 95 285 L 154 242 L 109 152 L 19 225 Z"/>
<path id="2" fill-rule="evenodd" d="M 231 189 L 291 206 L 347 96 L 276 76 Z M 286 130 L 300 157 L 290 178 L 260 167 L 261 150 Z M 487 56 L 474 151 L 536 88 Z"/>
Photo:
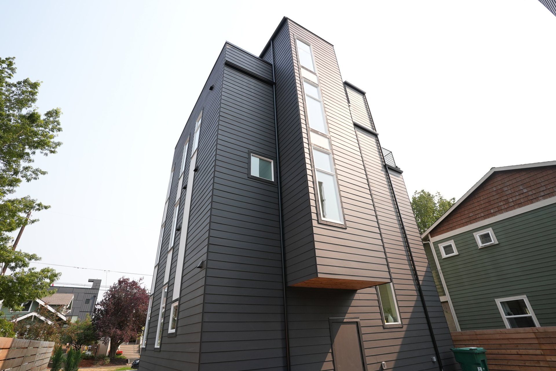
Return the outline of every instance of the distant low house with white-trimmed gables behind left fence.
<path id="1" fill-rule="evenodd" d="M 23 309 L 13 311 L 11 308 L 0 307 L 0 318 L 6 318 L 18 322 L 22 319 L 41 320 L 52 324 L 53 322 L 38 313 L 39 308 L 44 308 L 56 314 L 60 319 L 67 320 L 73 305 L 73 294 L 56 293 L 42 299 L 27 300 L 21 304 Z"/>

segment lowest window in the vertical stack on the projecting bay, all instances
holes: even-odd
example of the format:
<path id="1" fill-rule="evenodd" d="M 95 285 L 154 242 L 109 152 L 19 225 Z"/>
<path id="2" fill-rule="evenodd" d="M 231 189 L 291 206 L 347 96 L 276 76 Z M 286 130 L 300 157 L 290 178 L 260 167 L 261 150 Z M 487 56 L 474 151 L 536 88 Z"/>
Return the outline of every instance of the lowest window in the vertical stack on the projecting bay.
<path id="1" fill-rule="evenodd" d="M 340 208 L 340 196 L 336 184 L 336 174 L 332 166 L 332 154 L 313 147 L 313 162 L 317 181 L 320 216 L 323 220 L 344 223 Z"/>

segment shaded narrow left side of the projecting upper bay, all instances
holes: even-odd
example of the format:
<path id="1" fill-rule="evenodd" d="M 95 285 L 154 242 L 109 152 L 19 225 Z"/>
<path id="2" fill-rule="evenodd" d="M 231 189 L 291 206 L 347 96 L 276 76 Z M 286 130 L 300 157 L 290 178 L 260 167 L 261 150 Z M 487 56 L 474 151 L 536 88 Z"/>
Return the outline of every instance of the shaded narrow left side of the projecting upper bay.
<path id="1" fill-rule="evenodd" d="M 301 130 L 300 101 L 294 72 L 294 41 L 285 22 L 264 58 L 272 61 L 274 51 L 276 113 L 280 149 L 282 214 L 286 250 L 287 283 L 316 277 L 311 201 L 307 188 L 306 132 Z"/>

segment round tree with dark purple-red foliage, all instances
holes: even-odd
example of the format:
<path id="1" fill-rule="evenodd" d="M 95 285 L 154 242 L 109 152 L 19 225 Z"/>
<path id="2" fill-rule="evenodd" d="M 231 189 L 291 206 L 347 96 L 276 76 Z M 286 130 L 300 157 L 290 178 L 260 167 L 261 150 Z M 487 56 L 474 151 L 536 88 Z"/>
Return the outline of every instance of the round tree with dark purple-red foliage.
<path id="1" fill-rule="evenodd" d="M 140 280 L 118 279 L 104 294 L 93 316 L 93 325 L 103 343 L 110 341 L 110 358 L 120 344 L 136 338 L 147 319 L 148 294 Z"/>

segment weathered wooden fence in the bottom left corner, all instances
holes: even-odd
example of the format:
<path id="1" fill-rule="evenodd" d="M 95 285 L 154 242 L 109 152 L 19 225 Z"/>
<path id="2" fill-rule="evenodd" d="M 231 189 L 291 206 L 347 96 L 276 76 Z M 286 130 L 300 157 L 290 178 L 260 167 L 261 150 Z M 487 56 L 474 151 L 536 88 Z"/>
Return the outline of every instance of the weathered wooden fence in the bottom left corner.
<path id="1" fill-rule="evenodd" d="M 46 370 L 54 343 L 0 338 L 0 371 Z"/>

